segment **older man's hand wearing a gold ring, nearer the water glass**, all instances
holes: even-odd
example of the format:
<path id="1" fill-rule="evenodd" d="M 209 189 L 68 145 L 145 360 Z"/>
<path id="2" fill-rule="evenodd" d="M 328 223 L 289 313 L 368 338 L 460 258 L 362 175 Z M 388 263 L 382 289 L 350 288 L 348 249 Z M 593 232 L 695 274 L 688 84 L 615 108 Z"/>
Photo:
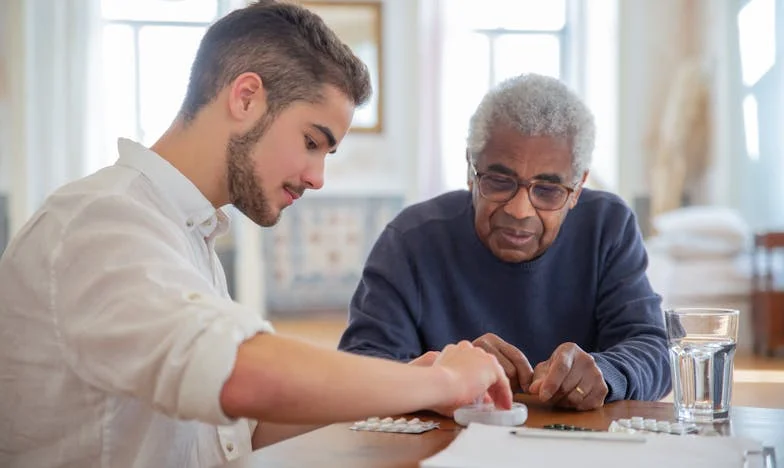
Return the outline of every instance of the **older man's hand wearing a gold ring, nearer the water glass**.
<path id="1" fill-rule="evenodd" d="M 575 343 L 564 343 L 550 359 L 536 365 L 529 393 L 543 402 L 581 411 L 599 408 L 607 383 L 593 356 Z"/>

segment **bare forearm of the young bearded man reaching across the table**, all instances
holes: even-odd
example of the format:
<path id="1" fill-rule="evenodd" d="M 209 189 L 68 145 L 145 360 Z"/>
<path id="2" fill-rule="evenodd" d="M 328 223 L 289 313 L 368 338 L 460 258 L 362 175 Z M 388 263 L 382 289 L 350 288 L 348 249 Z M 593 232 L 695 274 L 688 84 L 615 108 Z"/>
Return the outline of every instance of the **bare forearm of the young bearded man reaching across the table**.
<path id="1" fill-rule="evenodd" d="M 451 387 L 449 374 L 438 367 L 257 335 L 240 346 L 221 405 L 231 417 L 316 424 L 433 407 Z"/>

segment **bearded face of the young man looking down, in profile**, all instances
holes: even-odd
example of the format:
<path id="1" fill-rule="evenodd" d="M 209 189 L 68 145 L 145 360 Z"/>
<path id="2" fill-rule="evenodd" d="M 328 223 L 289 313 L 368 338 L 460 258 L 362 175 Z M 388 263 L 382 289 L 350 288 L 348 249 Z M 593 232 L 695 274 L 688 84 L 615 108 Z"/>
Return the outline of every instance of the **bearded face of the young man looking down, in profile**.
<path id="1" fill-rule="evenodd" d="M 229 142 L 230 201 L 256 224 L 274 225 L 306 189 L 324 185 L 324 159 L 348 132 L 354 105 L 331 86 L 323 97 L 295 102 L 272 121 L 265 115 Z"/>

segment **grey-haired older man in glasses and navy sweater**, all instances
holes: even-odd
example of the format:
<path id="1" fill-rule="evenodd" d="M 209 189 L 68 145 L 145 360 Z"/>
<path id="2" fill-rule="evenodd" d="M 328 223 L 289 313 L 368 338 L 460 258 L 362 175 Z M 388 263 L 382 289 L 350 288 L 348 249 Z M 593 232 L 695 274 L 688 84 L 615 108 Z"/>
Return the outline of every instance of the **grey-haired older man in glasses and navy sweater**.
<path id="1" fill-rule="evenodd" d="M 635 217 L 617 196 L 583 188 L 594 132 L 556 79 L 492 89 L 471 119 L 469 190 L 386 227 L 340 348 L 408 361 L 470 339 L 542 401 L 587 410 L 663 397 L 661 300 Z"/>

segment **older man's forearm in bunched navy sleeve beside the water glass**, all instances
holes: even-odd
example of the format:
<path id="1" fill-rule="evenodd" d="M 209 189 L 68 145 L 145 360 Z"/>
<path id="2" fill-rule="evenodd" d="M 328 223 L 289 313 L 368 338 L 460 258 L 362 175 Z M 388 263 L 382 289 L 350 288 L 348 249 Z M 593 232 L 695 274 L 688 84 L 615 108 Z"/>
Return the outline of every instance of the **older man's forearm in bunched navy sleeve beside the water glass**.
<path id="1" fill-rule="evenodd" d="M 665 341 L 638 336 L 598 353 L 591 353 L 610 392 L 606 401 L 655 401 L 669 393 L 671 375 Z"/>

